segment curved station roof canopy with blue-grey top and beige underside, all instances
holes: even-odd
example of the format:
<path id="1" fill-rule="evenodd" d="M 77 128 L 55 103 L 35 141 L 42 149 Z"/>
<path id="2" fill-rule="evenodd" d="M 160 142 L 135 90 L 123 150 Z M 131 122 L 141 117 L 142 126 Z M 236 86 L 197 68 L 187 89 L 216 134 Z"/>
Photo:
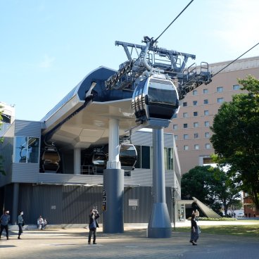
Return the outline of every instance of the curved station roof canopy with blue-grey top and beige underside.
<path id="1" fill-rule="evenodd" d="M 93 70 L 42 118 L 47 142 L 64 149 L 87 149 L 108 143 L 110 118 L 119 120 L 120 135 L 136 126 L 132 91 L 105 88 L 114 73 L 105 67 Z"/>

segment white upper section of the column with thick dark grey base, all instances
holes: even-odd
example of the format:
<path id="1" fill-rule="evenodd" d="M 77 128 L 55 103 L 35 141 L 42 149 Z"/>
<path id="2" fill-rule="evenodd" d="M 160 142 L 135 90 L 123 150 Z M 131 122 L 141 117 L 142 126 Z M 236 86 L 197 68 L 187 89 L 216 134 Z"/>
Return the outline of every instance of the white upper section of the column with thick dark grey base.
<path id="1" fill-rule="evenodd" d="M 119 144 L 119 120 L 109 120 L 109 158 L 107 169 L 121 169 L 120 166 L 120 144 Z"/>

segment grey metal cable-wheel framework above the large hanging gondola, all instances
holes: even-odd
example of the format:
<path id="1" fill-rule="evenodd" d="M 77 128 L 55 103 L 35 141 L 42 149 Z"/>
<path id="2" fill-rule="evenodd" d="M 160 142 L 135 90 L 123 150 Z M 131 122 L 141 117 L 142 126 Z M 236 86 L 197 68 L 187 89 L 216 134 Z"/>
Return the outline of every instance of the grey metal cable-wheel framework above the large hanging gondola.
<path id="1" fill-rule="evenodd" d="M 145 76 L 146 70 L 163 73 L 170 80 L 177 81 L 179 100 L 201 84 L 211 82 L 212 74 L 208 71 L 208 63 L 202 62 L 199 69 L 195 63 L 186 67 L 188 59 L 195 59 L 195 55 L 159 48 L 149 37 L 144 37 L 143 42 L 146 46 L 115 42 L 116 46 L 123 47 L 128 61 L 122 63 L 119 70 L 106 80 L 106 89 L 133 91 L 136 83 Z M 137 53 L 136 58 L 133 50 Z"/>

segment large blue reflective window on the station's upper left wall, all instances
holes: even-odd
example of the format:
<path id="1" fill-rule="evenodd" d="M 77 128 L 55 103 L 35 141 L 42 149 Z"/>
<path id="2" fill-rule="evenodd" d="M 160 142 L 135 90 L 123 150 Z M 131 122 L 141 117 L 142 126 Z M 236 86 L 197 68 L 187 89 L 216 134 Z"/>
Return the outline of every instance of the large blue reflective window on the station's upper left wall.
<path id="1" fill-rule="evenodd" d="M 15 163 L 39 163 L 39 138 L 15 137 Z"/>

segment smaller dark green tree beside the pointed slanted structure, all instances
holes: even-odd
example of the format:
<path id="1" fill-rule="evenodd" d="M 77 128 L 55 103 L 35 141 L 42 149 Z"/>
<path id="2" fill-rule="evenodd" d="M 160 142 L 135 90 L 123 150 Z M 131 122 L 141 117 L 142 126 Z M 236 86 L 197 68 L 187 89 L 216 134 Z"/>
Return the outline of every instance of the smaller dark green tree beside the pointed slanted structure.
<path id="1" fill-rule="evenodd" d="M 239 188 L 220 168 L 196 166 L 182 176 L 181 185 L 182 199 L 196 197 L 217 213 L 223 205 L 227 214 L 240 198 Z"/>

